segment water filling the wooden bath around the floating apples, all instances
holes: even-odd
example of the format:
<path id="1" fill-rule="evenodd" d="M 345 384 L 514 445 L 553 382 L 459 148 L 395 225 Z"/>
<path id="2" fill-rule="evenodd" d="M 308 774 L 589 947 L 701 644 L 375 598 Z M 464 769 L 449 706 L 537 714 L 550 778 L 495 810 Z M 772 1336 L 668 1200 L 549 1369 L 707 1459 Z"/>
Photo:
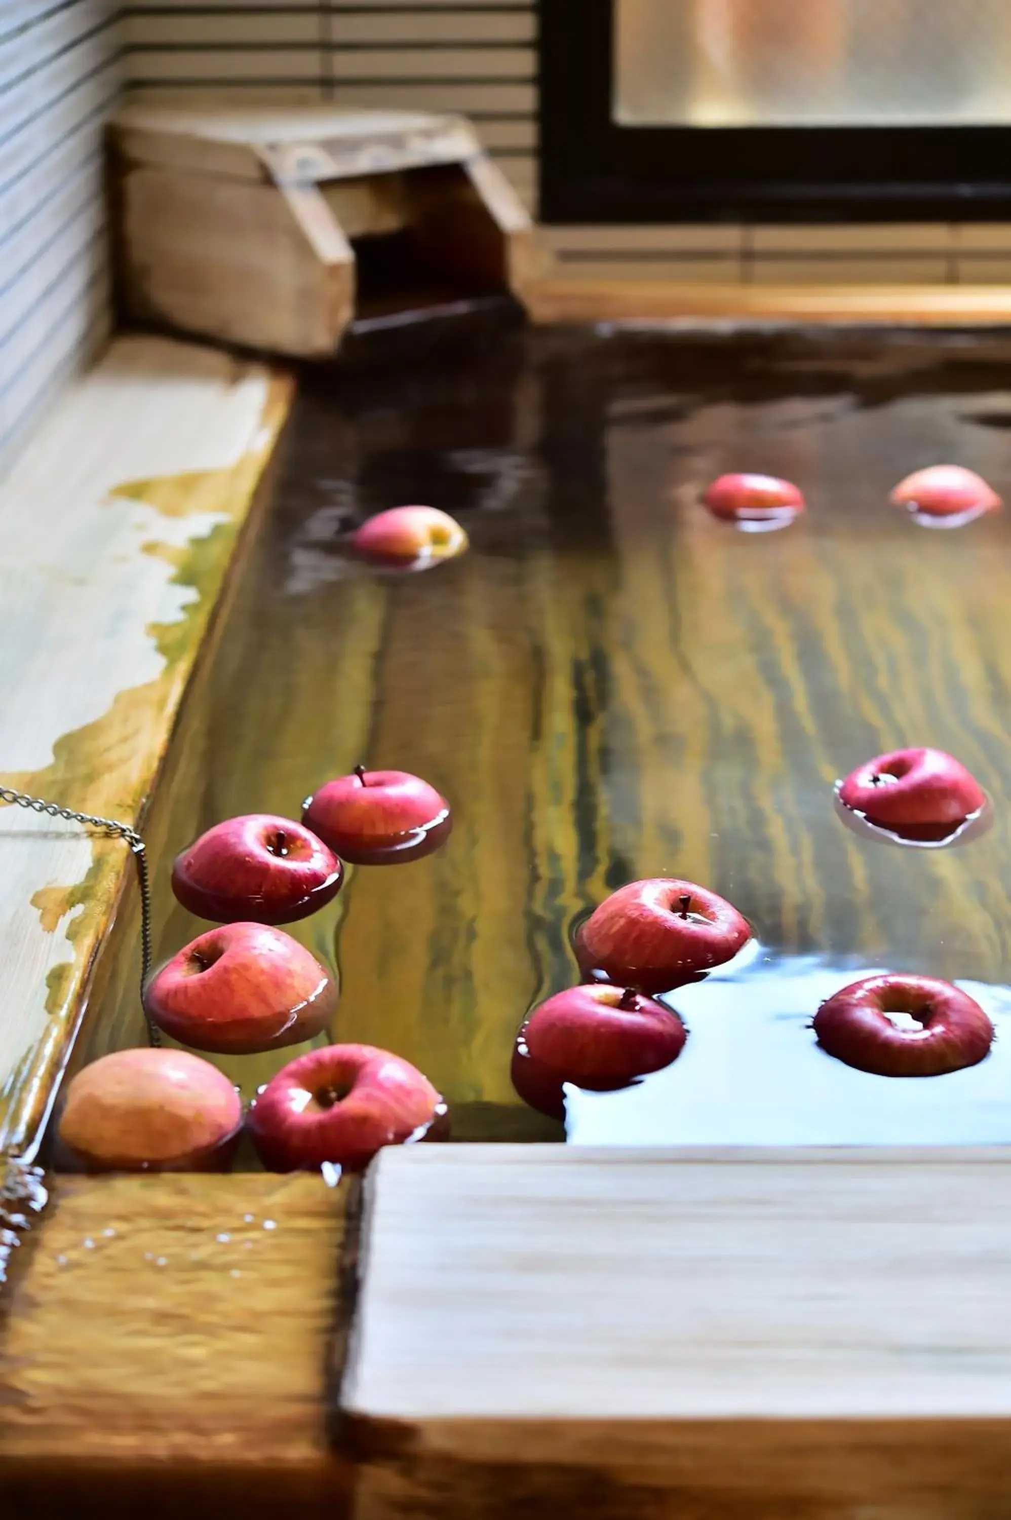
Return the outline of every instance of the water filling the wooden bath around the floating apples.
<path id="1" fill-rule="evenodd" d="M 515 1031 L 576 980 L 578 920 L 678 876 L 760 948 L 672 994 L 670 1069 L 572 1094 L 570 1140 L 1011 1142 L 1011 512 L 924 534 L 888 503 L 940 462 L 1011 497 L 1009 360 L 958 333 L 493 328 L 304 377 L 211 673 L 201 827 L 298 816 L 357 763 L 453 806 L 441 851 L 351 868 L 292 926 L 339 962 L 333 1038 L 417 1062 L 458 1138 L 561 1137 L 511 1088 Z M 794 480 L 807 511 L 718 521 L 699 496 L 727 471 Z M 470 552 L 406 576 L 348 555 L 410 502 Z M 898 850 L 844 827 L 836 780 L 909 745 L 973 771 L 988 831 Z M 173 910 L 160 948 L 198 929 Z M 991 1056 L 897 1081 L 819 1052 L 819 1000 L 880 970 L 964 985 Z M 228 1070 L 249 1088 L 280 1064 Z"/>

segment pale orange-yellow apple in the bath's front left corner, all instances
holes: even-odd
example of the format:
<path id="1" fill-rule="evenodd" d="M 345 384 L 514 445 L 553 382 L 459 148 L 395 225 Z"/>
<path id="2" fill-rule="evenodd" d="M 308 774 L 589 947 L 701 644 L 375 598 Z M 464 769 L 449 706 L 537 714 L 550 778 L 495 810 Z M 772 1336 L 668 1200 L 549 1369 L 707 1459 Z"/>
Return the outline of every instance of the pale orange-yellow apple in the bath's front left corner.
<path id="1" fill-rule="evenodd" d="M 67 1088 L 59 1138 L 94 1172 L 227 1170 L 242 1102 L 189 1050 L 114 1050 Z"/>

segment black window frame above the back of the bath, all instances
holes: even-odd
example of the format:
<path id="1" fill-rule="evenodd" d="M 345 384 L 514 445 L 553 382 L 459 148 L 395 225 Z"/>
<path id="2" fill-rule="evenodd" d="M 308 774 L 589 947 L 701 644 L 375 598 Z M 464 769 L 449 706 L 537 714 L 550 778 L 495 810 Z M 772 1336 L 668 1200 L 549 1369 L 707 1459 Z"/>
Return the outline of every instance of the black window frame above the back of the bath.
<path id="1" fill-rule="evenodd" d="M 1011 219 L 1011 125 L 699 128 L 614 122 L 614 3 L 538 0 L 544 222 Z"/>

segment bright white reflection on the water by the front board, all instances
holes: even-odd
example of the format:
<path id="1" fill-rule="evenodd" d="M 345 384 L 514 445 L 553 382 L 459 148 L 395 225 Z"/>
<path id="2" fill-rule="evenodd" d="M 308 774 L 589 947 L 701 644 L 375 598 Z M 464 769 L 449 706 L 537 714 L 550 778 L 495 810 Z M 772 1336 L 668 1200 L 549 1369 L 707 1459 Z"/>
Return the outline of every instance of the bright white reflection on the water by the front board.
<path id="1" fill-rule="evenodd" d="M 1011 988 L 959 980 L 996 1028 L 979 1066 L 933 1078 L 856 1072 L 819 1050 L 818 1005 L 856 961 L 763 952 L 661 999 L 690 1038 L 673 1066 L 620 1093 L 566 1090 L 573 1145 L 1011 1143 Z"/>

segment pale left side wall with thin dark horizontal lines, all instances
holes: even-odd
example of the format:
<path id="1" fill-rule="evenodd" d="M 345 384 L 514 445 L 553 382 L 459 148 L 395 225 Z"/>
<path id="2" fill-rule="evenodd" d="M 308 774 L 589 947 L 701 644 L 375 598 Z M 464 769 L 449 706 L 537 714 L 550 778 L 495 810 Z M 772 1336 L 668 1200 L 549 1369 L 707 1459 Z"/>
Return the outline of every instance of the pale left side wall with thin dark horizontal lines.
<path id="1" fill-rule="evenodd" d="M 0 0 L 0 468 L 108 331 L 111 0 Z"/>

